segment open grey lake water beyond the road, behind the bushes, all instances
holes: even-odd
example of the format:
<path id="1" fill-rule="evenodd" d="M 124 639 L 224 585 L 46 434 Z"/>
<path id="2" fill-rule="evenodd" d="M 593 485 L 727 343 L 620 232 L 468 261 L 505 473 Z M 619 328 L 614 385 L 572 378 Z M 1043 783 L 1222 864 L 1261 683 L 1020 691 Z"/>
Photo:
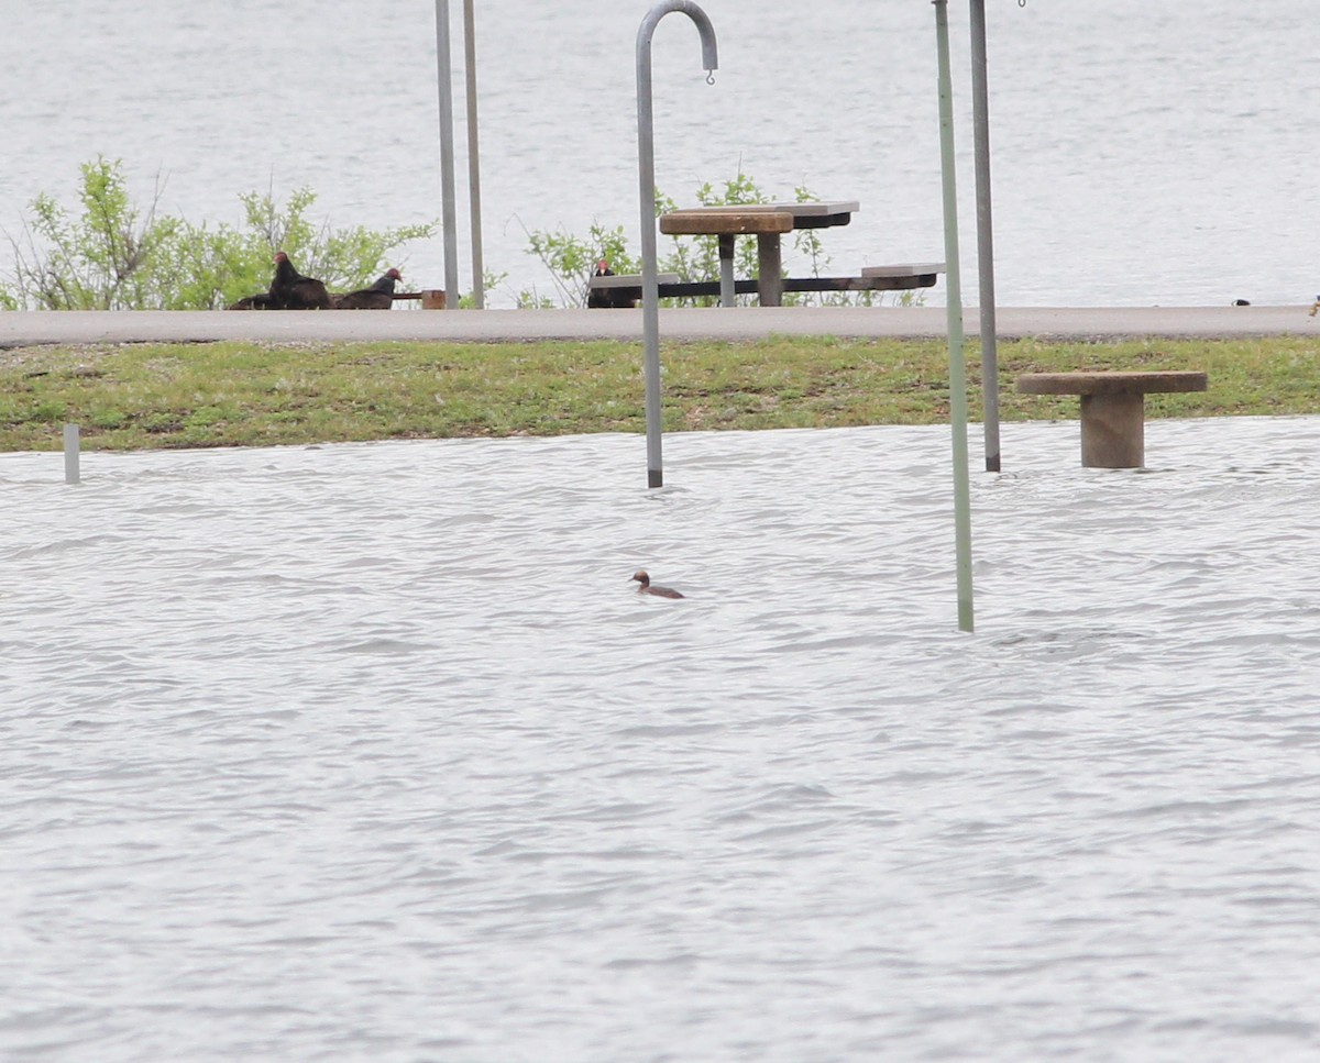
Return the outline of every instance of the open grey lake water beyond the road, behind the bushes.
<path id="1" fill-rule="evenodd" d="M 486 261 L 510 274 L 495 305 L 556 294 L 529 229 L 585 236 L 594 219 L 638 245 L 635 40 L 649 7 L 478 0 Z M 780 198 L 805 185 L 861 200 L 828 233 L 841 272 L 942 258 L 931 5 L 704 7 L 715 86 L 685 18 L 655 40 L 660 187 L 690 203 L 741 166 Z M 950 7 L 974 298 L 966 15 Z M 1312 301 L 1320 21 L 1292 0 L 987 7 L 1001 302 Z M 147 202 L 160 177 L 161 208 L 193 220 L 236 223 L 239 193 L 300 185 L 334 226 L 440 216 L 430 3 L 327 0 L 314 18 L 257 0 L 8 8 L 0 226 L 20 243 L 25 204 L 42 190 L 71 202 L 98 153 L 121 157 Z M 438 239 L 408 256 L 411 281 L 441 286 Z"/>

